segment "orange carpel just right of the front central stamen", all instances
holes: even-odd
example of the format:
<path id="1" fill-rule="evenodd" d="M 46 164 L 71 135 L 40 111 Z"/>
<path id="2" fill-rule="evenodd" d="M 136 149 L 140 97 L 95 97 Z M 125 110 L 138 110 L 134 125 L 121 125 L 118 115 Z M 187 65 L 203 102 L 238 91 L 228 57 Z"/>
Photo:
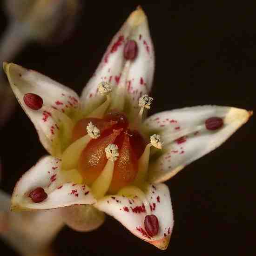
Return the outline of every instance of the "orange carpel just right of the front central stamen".
<path id="1" fill-rule="evenodd" d="M 118 141 L 123 140 L 122 144 L 115 142 L 119 147 L 119 158 L 115 161 L 113 178 L 108 190 L 110 194 L 117 193 L 119 189 L 133 182 L 138 171 L 138 160 L 131 148 L 129 135 L 123 133 L 120 137 L 123 138 L 118 138 Z"/>

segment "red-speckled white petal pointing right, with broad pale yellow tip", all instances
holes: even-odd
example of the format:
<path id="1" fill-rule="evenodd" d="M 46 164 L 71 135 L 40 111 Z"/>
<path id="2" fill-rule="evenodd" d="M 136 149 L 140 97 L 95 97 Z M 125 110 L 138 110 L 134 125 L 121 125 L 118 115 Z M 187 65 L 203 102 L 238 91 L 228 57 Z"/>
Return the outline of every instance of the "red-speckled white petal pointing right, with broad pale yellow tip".
<path id="1" fill-rule="evenodd" d="M 248 121 L 251 112 L 240 108 L 198 106 L 165 111 L 144 122 L 148 134 L 160 134 L 162 155 L 149 163 L 150 182 L 164 182 L 190 162 L 219 147 Z M 211 117 L 223 120 L 223 126 L 209 130 L 205 121 Z"/>

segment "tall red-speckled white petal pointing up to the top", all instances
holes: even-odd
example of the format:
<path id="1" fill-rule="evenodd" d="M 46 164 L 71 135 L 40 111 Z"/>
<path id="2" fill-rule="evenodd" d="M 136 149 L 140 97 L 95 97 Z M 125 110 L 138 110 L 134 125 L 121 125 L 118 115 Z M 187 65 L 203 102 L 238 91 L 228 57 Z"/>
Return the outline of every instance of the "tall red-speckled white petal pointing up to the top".
<path id="1" fill-rule="evenodd" d="M 137 44 L 137 56 L 134 60 L 124 58 L 124 47 L 129 40 L 134 40 Z M 97 93 L 97 85 L 101 81 L 108 81 L 114 86 L 112 94 L 119 96 L 112 97 L 114 101 L 118 98 L 116 104 L 124 104 L 128 94 L 128 110 L 137 112 L 139 97 L 148 94 L 152 87 L 154 68 L 154 47 L 147 16 L 138 7 L 115 34 L 95 74 L 83 90 L 82 101 L 87 113 L 104 100 L 104 97 Z"/>

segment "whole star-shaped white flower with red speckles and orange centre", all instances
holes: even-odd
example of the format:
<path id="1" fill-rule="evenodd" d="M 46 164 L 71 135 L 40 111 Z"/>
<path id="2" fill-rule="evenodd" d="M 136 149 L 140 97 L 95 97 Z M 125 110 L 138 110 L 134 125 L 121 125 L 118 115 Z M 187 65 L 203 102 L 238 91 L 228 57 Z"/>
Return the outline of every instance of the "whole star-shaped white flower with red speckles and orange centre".
<path id="1" fill-rule="evenodd" d="M 12 209 L 62 208 L 65 222 L 92 230 L 114 216 L 166 249 L 173 229 L 164 182 L 232 135 L 250 112 L 199 106 L 148 117 L 154 48 L 138 8 L 110 43 L 83 90 L 4 64 L 13 92 L 49 152 L 17 182 Z M 149 141 L 150 142 L 147 142 Z M 69 206 L 69 207 L 66 207 Z"/>

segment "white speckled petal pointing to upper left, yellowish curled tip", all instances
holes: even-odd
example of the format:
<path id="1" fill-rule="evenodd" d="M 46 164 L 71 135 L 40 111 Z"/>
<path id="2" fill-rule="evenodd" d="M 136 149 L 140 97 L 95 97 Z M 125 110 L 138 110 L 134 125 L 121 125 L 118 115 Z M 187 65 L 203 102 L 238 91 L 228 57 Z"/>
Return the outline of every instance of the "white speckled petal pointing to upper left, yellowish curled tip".
<path id="1" fill-rule="evenodd" d="M 42 145 L 51 155 L 58 155 L 60 129 L 68 116 L 79 107 L 79 97 L 71 89 L 33 70 L 13 63 L 4 64 L 5 72 L 15 96 L 28 117 L 34 123 Z M 39 95 L 42 108 L 34 110 L 24 102 L 24 94 Z M 63 112 L 63 113 L 62 113 Z M 65 115 L 66 114 L 66 115 Z M 69 120 L 69 122 L 71 122 Z M 64 129 L 64 128 L 63 128 Z"/>

